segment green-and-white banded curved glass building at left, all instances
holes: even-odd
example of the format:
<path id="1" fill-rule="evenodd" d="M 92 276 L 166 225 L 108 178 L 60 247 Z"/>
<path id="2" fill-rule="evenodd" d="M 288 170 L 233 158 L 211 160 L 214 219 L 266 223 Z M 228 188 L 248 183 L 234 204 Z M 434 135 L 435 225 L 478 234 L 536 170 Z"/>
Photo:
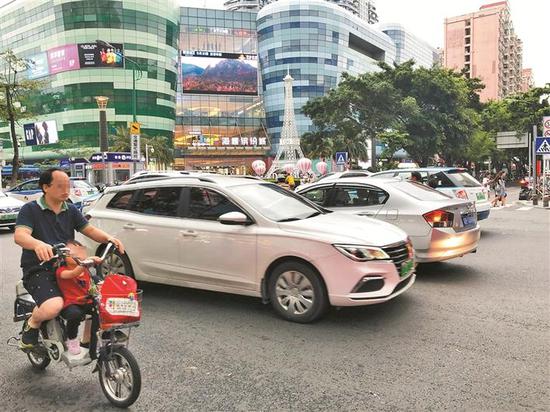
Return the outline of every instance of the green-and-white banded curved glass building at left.
<path id="1" fill-rule="evenodd" d="M 29 121 L 55 121 L 61 144 L 97 147 L 95 96 L 109 97 L 109 132 L 132 120 L 131 59 L 143 73 L 136 82 L 142 133 L 171 138 L 179 11 L 176 0 L 15 0 L 1 7 L 0 50 L 12 49 L 18 57 L 31 59 L 34 65 L 25 75 L 44 82 L 30 103 L 37 117 Z M 8 138 L 8 128 L 2 126 L 0 136 Z M 22 127 L 16 133 L 23 135 Z M 5 141 L 4 147 L 10 143 Z M 30 149 L 24 148 L 24 159 L 40 158 Z"/>

